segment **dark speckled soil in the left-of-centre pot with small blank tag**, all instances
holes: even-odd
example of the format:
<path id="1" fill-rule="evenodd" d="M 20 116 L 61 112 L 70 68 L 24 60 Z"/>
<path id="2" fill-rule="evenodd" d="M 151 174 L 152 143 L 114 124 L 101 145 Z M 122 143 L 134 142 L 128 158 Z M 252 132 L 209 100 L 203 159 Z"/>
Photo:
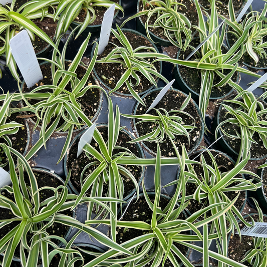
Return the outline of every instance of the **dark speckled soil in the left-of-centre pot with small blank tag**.
<path id="1" fill-rule="evenodd" d="M 104 138 L 104 141 L 106 142 L 108 140 L 108 128 L 106 126 L 102 126 L 102 127 L 97 127 L 98 130 L 100 131 L 100 133 L 102 134 L 102 137 Z M 130 137 L 128 135 L 126 135 L 125 133 L 120 133 L 119 134 L 119 138 L 118 141 L 116 143 L 116 146 L 121 146 L 124 148 L 128 148 L 130 149 L 136 156 L 140 157 L 140 154 L 135 146 L 135 144 L 129 144 L 127 143 L 128 141 L 130 141 Z M 77 151 L 78 151 L 78 141 L 76 140 L 76 142 L 72 145 L 72 147 L 70 148 L 70 151 L 68 153 L 69 157 L 67 159 L 67 171 L 69 171 L 70 169 L 72 170 L 72 175 L 71 175 L 71 182 L 73 184 L 73 186 L 75 187 L 75 189 L 80 192 L 81 191 L 81 182 L 80 182 L 80 177 L 81 177 L 81 173 L 84 170 L 84 167 L 89 164 L 90 162 L 96 161 L 94 160 L 90 160 L 86 155 L 85 152 L 83 152 L 78 158 L 77 158 Z M 99 146 L 96 143 L 96 141 L 94 139 L 92 139 L 91 145 L 100 152 L 99 150 Z M 121 149 L 114 149 L 113 155 L 117 154 L 119 152 L 122 152 L 125 150 L 121 150 Z M 130 165 L 126 165 L 124 166 L 126 167 L 136 178 L 137 182 L 139 181 L 139 179 L 141 178 L 141 172 L 142 172 L 142 168 L 139 166 L 130 166 Z M 84 178 L 89 174 L 92 173 L 93 170 L 95 170 L 97 168 L 97 165 L 93 165 L 90 168 L 87 169 L 87 171 L 84 173 Z M 132 190 L 134 190 L 134 184 L 132 182 L 131 179 L 123 176 L 123 183 L 124 183 L 124 197 L 126 197 Z M 89 196 L 91 192 L 91 189 L 87 190 L 86 194 Z M 104 183 L 104 189 L 103 189 L 103 193 L 102 195 L 106 195 L 108 192 L 108 184 Z"/>

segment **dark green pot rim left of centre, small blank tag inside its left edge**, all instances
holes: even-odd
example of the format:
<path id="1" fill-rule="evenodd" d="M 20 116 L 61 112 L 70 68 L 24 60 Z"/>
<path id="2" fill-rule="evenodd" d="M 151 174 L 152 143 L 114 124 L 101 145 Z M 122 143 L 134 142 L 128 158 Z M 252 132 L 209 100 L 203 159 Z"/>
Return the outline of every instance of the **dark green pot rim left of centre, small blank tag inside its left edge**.
<path id="1" fill-rule="evenodd" d="M 107 124 L 99 124 L 97 125 L 97 128 L 101 128 L 101 127 L 108 127 Z M 71 142 L 69 148 L 68 148 L 68 151 L 67 151 L 67 154 L 65 155 L 65 159 L 64 159 L 64 171 L 65 171 L 65 175 L 67 177 L 68 175 L 68 171 L 69 169 L 67 168 L 67 162 L 68 162 L 68 156 L 69 156 L 69 153 L 70 153 L 70 150 L 71 150 L 71 147 L 76 144 L 77 142 L 79 142 L 80 140 L 80 137 L 85 133 L 85 131 L 87 131 L 87 129 L 85 129 L 84 131 L 82 131 L 81 133 L 79 133 L 74 139 L 73 141 Z M 129 136 L 131 139 L 134 139 L 134 137 L 132 136 L 131 133 L 129 133 L 128 131 L 126 131 L 125 129 L 121 130 L 121 132 L 124 134 L 124 135 L 127 135 Z M 139 152 L 139 157 L 140 158 L 144 158 L 145 155 L 144 155 L 144 152 L 141 148 L 141 146 L 138 144 L 138 143 L 135 143 L 134 145 L 136 145 L 136 148 Z M 145 174 L 145 168 L 142 166 L 142 171 L 141 171 L 141 174 L 140 174 L 140 179 L 139 179 L 139 182 L 138 182 L 138 185 L 140 186 L 142 180 L 144 179 L 144 174 Z M 71 180 L 69 180 L 69 186 L 70 188 L 72 189 L 72 191 L 79 195 L 80 193 L 77 191 L 77 189 L 74 187 L 74 185 L 72 184 Z M 135 189 L 129 194 L 127 195 L 126 197 L 123 198 L 123 200 L 127 200 L 129 197 L 131 197 L 134 193 L 135 193 Z"/>

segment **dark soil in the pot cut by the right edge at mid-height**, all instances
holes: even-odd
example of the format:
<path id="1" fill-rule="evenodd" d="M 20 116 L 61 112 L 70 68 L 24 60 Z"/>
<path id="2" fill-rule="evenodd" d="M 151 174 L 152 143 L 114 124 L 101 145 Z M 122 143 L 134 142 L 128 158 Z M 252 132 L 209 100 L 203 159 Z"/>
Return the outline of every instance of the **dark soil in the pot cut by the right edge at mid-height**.
<path id="1" fill-rule="evenodd" d="M 226 104 L 232 108 L 239 107 L 239 105 L 236 105 L 230 102 Z M 264 108 L 266 107 L 267 107 L 267 104 L 264 104 Z M 230 114 L 226 114 L 226 112 L 227 112 L 226 109 L 222 107 L 220 111 L 220 115 L 219 115 L 219 123 L 228 118 L 233 118 L 233 116 L 231 116 Z M 236 135 L 236 132 L 240 134 L 239 126 L 237 124 L 225 123 L 223 124 L 222 129 L 228 134 Z M 229 138 L 227 136 L 224 136 L 223 138 L 236 153 L 239 153 L 240 144 L 241 144 L 240 139 Z M 266 155 L 267 149 L 263 146 L 263 142 L 259 138 L 259 135 L 255 132 L 252 138 L 257 142 L 257 144 L 251 143 L 250 158 L 260 158 Z"/>

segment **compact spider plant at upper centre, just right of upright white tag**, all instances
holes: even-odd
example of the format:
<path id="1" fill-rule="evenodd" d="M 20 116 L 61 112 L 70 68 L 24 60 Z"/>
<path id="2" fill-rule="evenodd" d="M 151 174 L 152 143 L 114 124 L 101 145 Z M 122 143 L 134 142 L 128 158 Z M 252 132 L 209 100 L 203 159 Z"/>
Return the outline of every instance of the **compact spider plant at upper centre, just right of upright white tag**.
<path id="1" fill-rule="evenodd" d="M 145 106 L 143 100 L 140 96 L 134 91 L 134 87 L 139 85 L 140 77 L 138 73 L 141 73 L 145 76 L 145 78 L 153 85 L 157 87 L 157 83 L 154 80 L 153 76 L 156 76 L 162 79 L 167 84 L 169 83 L 165 77 L 159 74 L 153 64 L 149 63 L 150 59 L 161 59 L 162 54 L 156 52 L 153 47 L 145 47 L 141 46 L 133 50 L 131 44 L 127 40 L 126 36 L 123 34 L 122 30 L 117 25 L 117 31 L 111 29 L 113 35 L 119 40 L 121 47 L 115 45 L 115 48 L 110 52 L 110 54 L 97 60 L 97 63 L 119 63 L 123 65 L 123 68 L 126 68 L 126 71 L 117 82 L 114 89 L 112 89 L 109 94 L 117 91 L 119 88 L 123 86 L 124 83 L 127 85 L 127 89 L 131 93 L 131 95 L 140 102 L 143 106 Z M 139 50 L 146 49 L 150 50 L 147 53 L 139 53 Z"/>

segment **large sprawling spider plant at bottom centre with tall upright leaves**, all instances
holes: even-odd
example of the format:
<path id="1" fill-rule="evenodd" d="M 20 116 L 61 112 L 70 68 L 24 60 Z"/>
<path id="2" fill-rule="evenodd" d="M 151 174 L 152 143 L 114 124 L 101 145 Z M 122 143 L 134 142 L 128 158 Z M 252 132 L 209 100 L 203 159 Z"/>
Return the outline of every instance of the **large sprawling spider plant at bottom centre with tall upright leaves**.
<path id="1" fill-rule="evenodd" d="M 183 153 L 185 152 L 185 148 L 183 147 Z M 188 177 L 186 172 L 183 171 L 183 167 L 185 166 L 185 157 L 180 157 L 178 150 L 176 149 L 177 158 L 179 164 L 181 166 L 181 173 L 179 177 L 179 182 L 175 191 L 174 196 L 171 198 L 169 203 L 167 204 L 165 209 L 159 208 L 160 201 L 160 150 L 158 146 L 158 152 L 156 156 L 156 165 L 155 165 L 155 174 L 154 174 L 154 183 L 155 183 L 155 200 L 154 203 L 150 200 L 149 196 L 146 193 L 144 184 L 144 196 L 149 205 L 149 208 L 153 210 L 153 214 L 151 219 L 151 223 L 143 222 L 143 221 L 117 221 L 118 227 L 123 227 L 125 230 L 128 228 L 140 229 L 143 231 L 143 235 L 135 237 L 129 241 L 122 243 L 123 247 L 127 247 L 132 249 L 135 253 L 134 256 L 125 256 L 116 259 L 112 259 L 113 256 L 121 255 L 121 253 L 117 253 L 114 249 L 109 250 L 96 259 L 92 260 L 90 263 L 86 264 L 84 267 L 92 267 L 97 265 L 101 260 L 105 260 L 109 263 L 126 263 L 126 266 L 145 266 L 147 263 L 152 264 L 152 266 L 163 266 L 164 262 L 167 258 L 171 261 L 173 266 L 180 266 L 177 262 L 174 255 L 177 255 L 182 263 L 186 267 L 193 266 L 192 263 L 185 257 L 185 255 L 175 246 L 176 242 L 183 242 L 185 246 L 187 246 L 189 241 L 193 239 L 203 240 L 203 237 L 197 228 L 206 225 L 208 222 L 216 219 L 219 216 L 222 216 L 224 212 L 226 212 L 233 205 L 236 198 L 230 202 L 226 203 L 224 201 L 220 203 L 214 203 L 209 207 L 206 207 L 202 210 L 197 211 L 192 214 L 187 219 L 177 219 L 182 210 L 186 207 L 187 203 L 185 202 L 185 194 L 183 194 L 183 200 L 181 205 L 177 207 L 177 199 L 179 194 L 185 192 L 186 182 Z M 217 214 L 214 214 L 204 221 L 196 222 L 195 219 L 202 214 L 205 214 L 208 210 L 212 208 L 216 208 L 219 205 L 225 205 L 225 207 L 218 211 Z M 103 224 L 111 224 L 110 220 L 87 220 L 85 222 L 86 225 L 90 225 L 92 223 L 103 223 Z M 195 234 L 183 234 L 182 231 L 192 230 Z M 217 234 L 213 234 L 213 238 L 216 238 Z M 211 238 L 211 236 L 209 236 Z M 141 252 L 139 252 L 141 251 Z M 215 253 L 217 257 L 217 254 Z M 218 255 L 219 256 L 219 255 Z M 231 263 L 234 262 L 233 260 Z M 240 264 L 240 266 L 244 266 Z"/>

